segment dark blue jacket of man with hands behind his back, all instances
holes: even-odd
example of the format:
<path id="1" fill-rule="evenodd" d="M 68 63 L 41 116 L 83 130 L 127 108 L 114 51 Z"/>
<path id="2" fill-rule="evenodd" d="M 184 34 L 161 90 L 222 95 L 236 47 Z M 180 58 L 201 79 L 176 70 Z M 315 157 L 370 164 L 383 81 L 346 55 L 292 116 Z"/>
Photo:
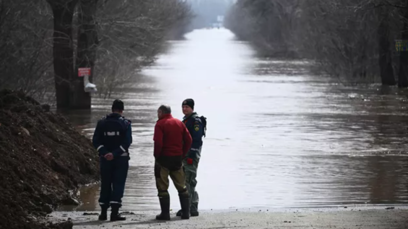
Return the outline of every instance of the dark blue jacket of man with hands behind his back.
<path id="1" fill-rule="evenodd" d="M 129 147 L 132 144 L 131 123 L 117 113 L 111 113 L 98 121 L 92 144 L 98 150 L 100 157 L 112 153 L 116 158 L 123 153 L 129 153 Z"/>

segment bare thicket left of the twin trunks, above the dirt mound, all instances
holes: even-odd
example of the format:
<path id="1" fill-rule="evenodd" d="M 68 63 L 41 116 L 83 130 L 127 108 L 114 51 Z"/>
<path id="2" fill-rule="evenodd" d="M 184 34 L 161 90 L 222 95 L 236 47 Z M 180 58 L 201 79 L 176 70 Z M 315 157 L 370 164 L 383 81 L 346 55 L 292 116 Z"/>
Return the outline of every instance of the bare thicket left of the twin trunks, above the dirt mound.
<path id="1" fill-rule="evenodd" d="M 52 91 L 51 26 L 45 2 L 0 1 L 0 89 L 21 90 L 35 98 Z"/>

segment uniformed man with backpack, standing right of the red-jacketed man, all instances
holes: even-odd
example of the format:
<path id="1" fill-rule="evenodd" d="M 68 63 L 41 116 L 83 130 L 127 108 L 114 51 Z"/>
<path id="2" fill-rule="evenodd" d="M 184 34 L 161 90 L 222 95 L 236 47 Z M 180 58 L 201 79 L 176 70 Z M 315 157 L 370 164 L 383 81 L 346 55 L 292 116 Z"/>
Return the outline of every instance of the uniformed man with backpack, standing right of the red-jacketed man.
<path id="1" fill-rule="evenodd" d="M 204 135 L 205 125 L 202 119 L 194 112 L 194 100 L 187 98 L 182 103 L 183 123 L 191 134 L 192 144 L 187 153 L 187 157 L 183 160 L 185 168 L 185 186 L 190 195 L 190 214 L 191 216 L 198 216 L 198 193 L 195 190 L 197 185 L 197 168 L 201 157 L 201 146 L 203 144 L 202 137 Z M 177 215 L 181 214 L 181 210 Z"/>

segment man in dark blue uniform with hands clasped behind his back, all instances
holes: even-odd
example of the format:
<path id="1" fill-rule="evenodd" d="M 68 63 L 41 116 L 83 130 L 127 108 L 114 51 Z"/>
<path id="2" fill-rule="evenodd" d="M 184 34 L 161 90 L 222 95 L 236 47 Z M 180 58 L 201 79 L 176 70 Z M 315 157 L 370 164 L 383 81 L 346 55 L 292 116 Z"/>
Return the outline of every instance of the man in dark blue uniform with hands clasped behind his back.
<path id="1" fill-rule="evenodd" d="M 131 121 L 122 116 L 123 102 L 113 101 L 112 113 L 98 121 L 92 143 L 98 150 L 101 169 L 101 193 L 99 205 L 102 208 L 99 220 L 107 220 L 111 207 L 111 221 L 126 220 L 120 216 L 122 197 L 129 169 L 129 147 L 132 144 Z"/>

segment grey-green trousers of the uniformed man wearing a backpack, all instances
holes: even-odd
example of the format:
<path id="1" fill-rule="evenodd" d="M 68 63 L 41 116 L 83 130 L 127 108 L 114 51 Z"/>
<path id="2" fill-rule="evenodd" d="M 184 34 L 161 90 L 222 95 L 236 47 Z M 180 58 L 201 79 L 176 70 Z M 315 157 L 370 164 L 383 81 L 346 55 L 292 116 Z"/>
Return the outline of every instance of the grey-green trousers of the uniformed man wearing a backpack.
<path id="1" fill-rule="evenodd" d="M 200 162 L 201 148 L 197 152 L 197 159 L 193 160 L 193 164 L 187 164 L 187 158 L 183 160 L 185 171 L 185 187 L 190 195 L 190 211 L 198 210 L 198 193 L 195 189 L 197 186 L 197 169 Z"/>

